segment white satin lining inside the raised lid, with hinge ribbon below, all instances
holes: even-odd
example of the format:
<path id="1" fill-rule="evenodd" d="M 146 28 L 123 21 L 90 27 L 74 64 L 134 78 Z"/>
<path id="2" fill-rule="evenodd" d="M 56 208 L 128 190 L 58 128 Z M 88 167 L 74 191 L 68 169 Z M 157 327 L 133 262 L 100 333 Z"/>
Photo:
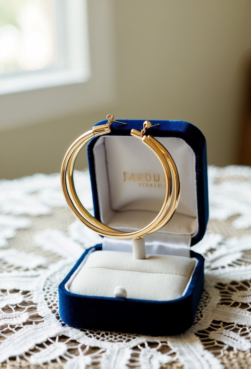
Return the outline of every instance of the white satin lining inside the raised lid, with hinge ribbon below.
<path id="1" fill-rule="evenodd" d="M 181 195 L 169 223 L 145 237 L 146 252 L 189 257 L 191 238 L 198 232 L 195 154 L 183 139 L 157 139 L 168 149 L 177 165 Z M 160 175 L 158 183 L 163 184 L 162 167 L 151 150 L 133 137 L 107 136 L 97 140 L 93 155 L 102 223 L 123 231 L 136 230 L 150 223 L 165 196 L 164 187 L 142 187 L 142 183 L 147 183 L 146 173 L 157 179 Z M 138 180 L 138 173 L 144 181 Z M 104 238 L 103 249 L 131 251 L 131 241 Z"/>

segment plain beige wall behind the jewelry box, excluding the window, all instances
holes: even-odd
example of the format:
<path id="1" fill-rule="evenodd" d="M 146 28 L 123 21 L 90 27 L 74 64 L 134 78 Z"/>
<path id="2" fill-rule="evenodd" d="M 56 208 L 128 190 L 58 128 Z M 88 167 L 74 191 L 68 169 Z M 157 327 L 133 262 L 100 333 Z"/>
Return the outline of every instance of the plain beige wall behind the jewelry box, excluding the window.
<path id="1" fill-rule="evenodd" d="M 0 176 L 58 172 L 71 142 L 108 113 L 190 121 L 206 136 L 210 164 L 236 163 L 237 66 L 251 45 L 250 14 L 249 0 L 113 0 L 113 103 L 1 132 Z"/>

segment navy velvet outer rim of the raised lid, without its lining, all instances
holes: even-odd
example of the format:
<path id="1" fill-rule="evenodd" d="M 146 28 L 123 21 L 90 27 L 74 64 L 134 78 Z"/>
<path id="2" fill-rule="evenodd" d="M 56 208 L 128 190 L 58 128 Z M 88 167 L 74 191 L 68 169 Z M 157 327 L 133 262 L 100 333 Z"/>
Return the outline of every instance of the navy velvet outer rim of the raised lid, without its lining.
<path id="1" fill-rule="evenodd" d="M 141 130 L 143 127 L 144 120 L 120 120 L 120 122 L 125 122 L 127 125 L 112 123 L 112 132 L 109 133 L 110 136 L 130 136 L 132 128 Z M 106 124 L 106 120 L 97 123 L 96 125 Z M 152 125 L 160 124 L 157 127 L 151 128 L 149 133 L 153 137 L 177 137 L 183 139 L 191 146 L 195 153 L 195 171 L 197 180 L 197 208 L 198 208 L 198 233 L 191 240 L 191 246 L 197 244 L 204 237 L 206 231 L 206 225 L 208 223 L 208 177 L 207 177 L 207 160 L 206 160 L 206 140 L 202 132 L 195 127 L 193 124 L 184 121 L 160 121 L 151 120 Z M 93 146 L 99 137 L 95 137 L 89 143 L 88 152 L 88 162 L 89 162 L 89 172 L 91 177 L 92 186 L 92 196 L 93 196 L 93 206 L 95 217 L 100 220 L 99 213 L 99 202 L 98 202 L 98 192 L 96 186 L 96 175 L 95 175 L 95 165 L 93 157 Z"/>

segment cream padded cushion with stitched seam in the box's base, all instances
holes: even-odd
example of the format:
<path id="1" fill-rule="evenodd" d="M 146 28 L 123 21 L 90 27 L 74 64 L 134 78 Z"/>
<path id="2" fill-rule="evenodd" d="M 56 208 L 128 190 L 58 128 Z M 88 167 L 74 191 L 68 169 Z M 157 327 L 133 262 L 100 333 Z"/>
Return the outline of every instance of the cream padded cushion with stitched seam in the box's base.
<path id="1" fill-rule="evenodd" d="M 195 264 L 184 256 L 147 255 L 135 260 L 131 252 L 95 251 L 78 267 L 68 289 L 86 296 L 114 297 L 115 288 L 122 286 L 129 299 L 173 300 L 186 290 Z"/>

